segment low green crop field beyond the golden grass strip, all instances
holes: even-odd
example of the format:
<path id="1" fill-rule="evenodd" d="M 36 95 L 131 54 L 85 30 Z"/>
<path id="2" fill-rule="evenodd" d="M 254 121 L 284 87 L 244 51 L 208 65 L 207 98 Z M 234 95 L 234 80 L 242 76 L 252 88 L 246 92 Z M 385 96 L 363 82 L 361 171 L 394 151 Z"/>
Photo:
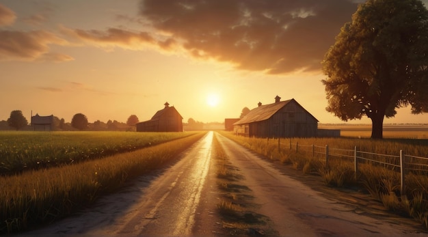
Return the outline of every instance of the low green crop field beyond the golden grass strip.
<path id="1" fill-rule="evenodd" d="M 0 132 L 0 176 L 131 152 L 193 133 Z"/>

